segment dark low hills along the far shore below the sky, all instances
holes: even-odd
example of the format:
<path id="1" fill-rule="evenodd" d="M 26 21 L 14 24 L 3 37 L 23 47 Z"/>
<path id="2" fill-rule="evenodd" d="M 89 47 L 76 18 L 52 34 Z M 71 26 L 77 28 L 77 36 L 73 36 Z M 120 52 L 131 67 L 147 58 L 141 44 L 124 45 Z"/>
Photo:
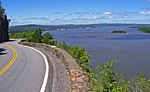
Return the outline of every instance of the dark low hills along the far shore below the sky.
<path id="1" fill-rule="evenodd" d="M 123 23 L 103 23 L 103 24 L 67 24 L 67 25 L 19 25 L 19 26 L 10 26 L 9 33 L 18 33 L 25 32 L 29 30 L 41 29 L 45 30 L 67 30 L 67 29 L 90 29 L 90 28 L 99 28 L 99 27 L 107 27 L 107 26 L 129 26 L 131 28 L 139 28 L 143 26 L 150 26 L 150 24 L 123 24 Z"/>

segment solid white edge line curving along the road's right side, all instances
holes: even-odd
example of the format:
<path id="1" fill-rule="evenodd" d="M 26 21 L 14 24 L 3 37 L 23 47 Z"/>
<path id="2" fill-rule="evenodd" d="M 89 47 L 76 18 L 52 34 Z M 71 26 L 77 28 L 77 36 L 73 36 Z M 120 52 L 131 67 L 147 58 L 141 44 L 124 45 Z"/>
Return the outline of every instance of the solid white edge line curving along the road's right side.
<path id="1" fill-rule="evenodd" d="M 24 46 L 24 45 L 21 45 L 21 46 Z M 47 80 L 48 80 L 48 74 L 49 74 L 48 60 L 47 60 L 46 56 L 41 51 L 39 51 L 33 47 L 29 47 L 29 46 L 24 46 L 24 47 L 35 50 L 36 52 L 40 53 L 42 55 L 42 57 L 44 58 L 45 65 L 46 65 L 46 71 L 45 71 L 45 76 L 44 76 L 44 80 L 43 80 L 43 84 L 42 84 L 42 87 L 40 89 L 40 92 L 45 92 L 45 88 L 46 88 Z"/>

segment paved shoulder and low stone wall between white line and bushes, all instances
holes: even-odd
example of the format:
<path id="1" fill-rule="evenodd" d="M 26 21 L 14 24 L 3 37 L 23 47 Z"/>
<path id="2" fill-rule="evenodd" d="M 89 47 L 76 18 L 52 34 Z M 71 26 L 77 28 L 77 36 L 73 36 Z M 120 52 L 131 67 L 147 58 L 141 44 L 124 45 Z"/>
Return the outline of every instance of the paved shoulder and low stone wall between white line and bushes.
<path id="1" fill-rule="evenodd" d="M 19 44 L 31 46 L 42 51 L 49 58 L 52 65 L 50 81 L 47 92 L 88 92 L 89 78 L 75 59 L 66 51 L 40 43 L 19 42 Z M 50 86 L 52 84 L 52 86 Z"/>

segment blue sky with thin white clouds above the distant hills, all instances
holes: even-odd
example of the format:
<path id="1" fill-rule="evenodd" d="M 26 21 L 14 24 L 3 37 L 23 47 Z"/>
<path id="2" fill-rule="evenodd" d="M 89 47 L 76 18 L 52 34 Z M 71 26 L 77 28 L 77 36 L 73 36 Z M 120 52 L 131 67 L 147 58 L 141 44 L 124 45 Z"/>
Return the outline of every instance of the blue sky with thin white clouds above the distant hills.
<path id="1" fill-rule="evenodd" d="M 1 0 L 11 25 L 150 24 L 150 0 Z"/>

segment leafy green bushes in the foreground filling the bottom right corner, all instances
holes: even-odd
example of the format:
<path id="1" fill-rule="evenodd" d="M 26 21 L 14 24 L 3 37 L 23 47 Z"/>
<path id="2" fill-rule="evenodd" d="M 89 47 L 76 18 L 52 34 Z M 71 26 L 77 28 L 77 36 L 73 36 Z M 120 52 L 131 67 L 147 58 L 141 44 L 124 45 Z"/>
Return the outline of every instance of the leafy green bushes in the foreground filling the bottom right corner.
<path id="1" fill-rule="evenodd" d="M 129 80 L 113 70 L 114 60 L 89 73 L 90 86 L 93 92 L 150 92 L 150 80 L 138 74 Z"/>

